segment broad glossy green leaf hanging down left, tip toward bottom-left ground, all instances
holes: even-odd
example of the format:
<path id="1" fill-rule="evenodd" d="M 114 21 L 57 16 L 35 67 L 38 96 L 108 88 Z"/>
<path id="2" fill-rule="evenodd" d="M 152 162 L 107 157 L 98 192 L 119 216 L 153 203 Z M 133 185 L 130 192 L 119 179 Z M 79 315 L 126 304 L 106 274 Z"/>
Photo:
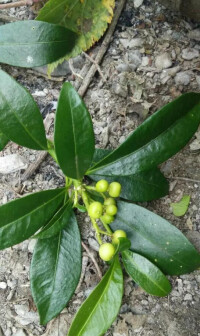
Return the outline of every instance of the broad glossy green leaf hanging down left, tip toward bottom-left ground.
<path id="1" fill-rule="evenodd" d="M 71 213 L 65 228 L 54 237 L 38 240 L 31 264 L 31 290 L 47 324 L 72 297 L 81 273 L 81 241 L 76 217 Z"/>

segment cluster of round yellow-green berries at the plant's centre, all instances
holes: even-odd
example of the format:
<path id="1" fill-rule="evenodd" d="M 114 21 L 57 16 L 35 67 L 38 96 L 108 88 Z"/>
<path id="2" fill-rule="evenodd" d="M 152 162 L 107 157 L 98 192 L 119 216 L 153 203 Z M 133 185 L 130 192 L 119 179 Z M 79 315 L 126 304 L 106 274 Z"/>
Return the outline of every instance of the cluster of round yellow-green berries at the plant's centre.
<path id="1" fill-rule="evenodd" d="M 99 248 L 100 258 L 104 261 L 109 261 L 115 255 L 119 238 L 126 238 L 126 232 L 117 230 L 112 233 L 108 226 L 114 221 L 114 216 L 117 214 L 117 205 L 114 198 L 120 196 L 121 184 L 118 182 L 109 184 L 106 180 L 100 180 L 96 183 L 95 190 L 104 197 L 104 203 L 92 202 L 89 205 L 88 214 L 92 221 L 101 220 L 107 230 L 107 235 L 112 239 L 112 243 L 101 243 Z"/>

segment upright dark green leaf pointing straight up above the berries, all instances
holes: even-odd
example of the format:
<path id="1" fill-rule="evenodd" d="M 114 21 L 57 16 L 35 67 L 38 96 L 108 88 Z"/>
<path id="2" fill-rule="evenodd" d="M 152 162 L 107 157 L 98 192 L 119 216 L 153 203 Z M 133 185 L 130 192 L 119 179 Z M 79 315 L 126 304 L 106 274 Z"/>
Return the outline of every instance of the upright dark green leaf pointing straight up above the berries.
<path id="1" fill-rule="evenodd" d="M 70 83 L 62 87 L 55 122 L 55 151 L 65 175 L 81 179 L 94 154 L 90 114 Z"/>

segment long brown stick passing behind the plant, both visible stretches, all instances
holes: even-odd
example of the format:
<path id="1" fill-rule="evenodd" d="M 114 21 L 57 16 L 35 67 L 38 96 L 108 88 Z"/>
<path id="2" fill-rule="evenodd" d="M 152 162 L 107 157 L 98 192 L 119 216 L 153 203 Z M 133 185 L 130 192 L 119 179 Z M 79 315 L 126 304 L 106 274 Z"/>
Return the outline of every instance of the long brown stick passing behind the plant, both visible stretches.
<path id="1" fill-rule="evenodd" d="M 116 25 L 117 25 L 117 22 L 118 22 L 118 19 L 120 17 L 120 14 L 123 10 L 123 7 L 126 3 L 126 0 L 120 0 L 119 1 L 119 4 L 118 4 L 118 7 L 115 11 L 115 15 L 113 17 L 113 20 L 110 24 L 110 27 L 108 28 L 108 31 L 106 33 L 106 36 L 103 40 L 103 43 L 101 45 L 101 48 L 99 50 L 99 52 L 97 53 L 97 56 L 94 60 L 95 64 L 93 64 L 91 67 L 90 67 L 90 70 L 88 71 L 87 70 L 87 67 L 84 67 L 83 68 L 83 71 L 81 72 L 81 77 L 84 78 L 84 82 L 83 84 L 80 86 L 79 90 L 78 90 L 78 93 L 81 97 L 84 97 L 94 75 L 95 75 L 95 72 L 97 71 L 97 64 L 99 65 L 103 59 L 103 56 L 110 44 L 110 40 L 111 40 L 111 37 L 114 33 L 114 30 L 116 28 Z M 84 73 L 87 73 L 87 75 L 85 76 Z M 75 85 L 76 88 L 78 89 L 79 87 L 79 81 L 80 79 L 78 79 L 78 83 Z M 36 162 L 32 163 L 27 169 L 26 171 L 24 172 L 24 174 L 22 175 L 22 181 L 25 181 L 26 179 L 28 179 L 35 171 L 36 169 L 38 169 L 38 167 L 40 166 L 40 164 L 42 163 L 42 161 L 44 161 L 44 159 L 47 157 L 47 152 L 42 152 L 38 159 L 36 160 Z M 17 190 L 18 192 L 18 190 Z"/>

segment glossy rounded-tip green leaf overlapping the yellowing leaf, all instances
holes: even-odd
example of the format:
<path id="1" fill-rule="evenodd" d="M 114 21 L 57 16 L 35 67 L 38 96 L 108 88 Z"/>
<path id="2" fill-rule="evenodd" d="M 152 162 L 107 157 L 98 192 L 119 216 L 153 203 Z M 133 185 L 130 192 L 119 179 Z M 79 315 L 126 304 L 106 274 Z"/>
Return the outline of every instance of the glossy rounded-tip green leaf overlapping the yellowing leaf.
<path id="1" fill-rule="evenodd" d="M 0 62 L 36 67 L 55 62 L 74 47 L 76 34 L 39 21 L 13 22 L 0 27 Z"/>

